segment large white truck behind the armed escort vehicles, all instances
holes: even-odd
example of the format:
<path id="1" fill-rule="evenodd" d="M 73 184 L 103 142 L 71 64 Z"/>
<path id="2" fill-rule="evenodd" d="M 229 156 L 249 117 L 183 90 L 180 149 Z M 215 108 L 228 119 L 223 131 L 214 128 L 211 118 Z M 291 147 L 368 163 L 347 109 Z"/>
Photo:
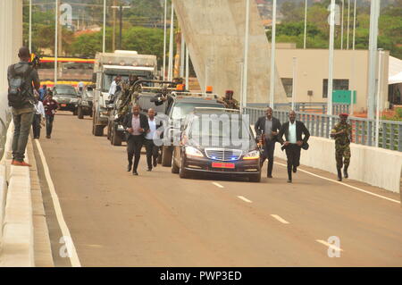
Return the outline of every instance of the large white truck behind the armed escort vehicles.
<path id="1" fill-rule="evenodd" d="M 135 51 L 116 50 L 114 53 L 96 53 L 93 81 L 96 82 L 92 107 L 92 134 L 103 136 L 109 118 L 110 86 L 117 75 L 128 80 L 129 75 L 139 79 L 155 80 L 156 55 L 138 54 Z"/>

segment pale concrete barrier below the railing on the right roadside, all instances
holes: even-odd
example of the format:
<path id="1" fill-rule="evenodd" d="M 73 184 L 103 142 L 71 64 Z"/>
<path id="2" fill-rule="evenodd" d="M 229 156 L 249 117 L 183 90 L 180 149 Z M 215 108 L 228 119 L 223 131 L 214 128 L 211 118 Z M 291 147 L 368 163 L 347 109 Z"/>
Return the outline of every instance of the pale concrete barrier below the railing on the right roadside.
<path id="1" fill-rule="evenodd" d="M 329 138 L 310 137 L 310 148 L 302 150 L 300 164 L 336 174 L 335 141 Z M 350 144 L 352 154 L 348 169 L 349 179 L 400 193 L 402 153 L 380 147 Z M 275 156 L 286 159 L 279 144 Z"/>

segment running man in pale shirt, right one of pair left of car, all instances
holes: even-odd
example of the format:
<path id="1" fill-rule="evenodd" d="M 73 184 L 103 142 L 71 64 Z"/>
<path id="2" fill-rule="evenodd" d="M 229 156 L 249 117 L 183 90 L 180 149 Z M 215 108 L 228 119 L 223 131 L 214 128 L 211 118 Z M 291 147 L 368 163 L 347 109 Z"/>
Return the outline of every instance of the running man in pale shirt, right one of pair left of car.
<path id="1" fill-rule="evenodd" d="M 145 146 L 147 149 L 147 164 L 148 169 L 147 172 L 152 171 L 152 166 L 156 167 L 158 155 L 159 155 L 159 147 L 155 146 L 154 139 L 157 138 L 157 129 L 161 124 L 156 124 L 155 120 L 155 110 L 150 108 L 148 109 L 148 124 L 149 130 L 147 131 L 147 135 L 145 138 Z"/>

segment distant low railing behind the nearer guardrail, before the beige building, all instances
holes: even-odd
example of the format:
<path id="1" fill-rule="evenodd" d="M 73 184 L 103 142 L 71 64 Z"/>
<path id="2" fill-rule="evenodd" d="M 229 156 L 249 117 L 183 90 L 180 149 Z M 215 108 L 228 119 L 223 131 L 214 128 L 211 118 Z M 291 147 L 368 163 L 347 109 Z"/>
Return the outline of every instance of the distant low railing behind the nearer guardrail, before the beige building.
<path id="1" fill-rule="evenodd" d="M 248 103 L 247 107 L 251 108 L 266 108 L 268 103 Z M 291 103 L 276 103 L 273 105 L 273 109 L 275 110 L 290 110 Z M 348 104 L 337 104 L 334 103 L 332 105 L 332 113 L 349 113 L 350 105 Z M 303 112 L 303 113 L 327 113 L 327 104 L 318 102 L 318 103 L 295 103 L 295 111 Z"/>

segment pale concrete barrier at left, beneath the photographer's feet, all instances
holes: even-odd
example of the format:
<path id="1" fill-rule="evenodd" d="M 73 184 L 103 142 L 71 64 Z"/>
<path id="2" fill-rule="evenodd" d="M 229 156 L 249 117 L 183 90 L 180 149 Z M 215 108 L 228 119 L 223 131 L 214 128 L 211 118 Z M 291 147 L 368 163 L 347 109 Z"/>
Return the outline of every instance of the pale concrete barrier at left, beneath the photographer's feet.
<path id="1" fill-rule="evenodd" d="M 32 267 L 35 266 L 34 229 L 29 168 L 11 165 L 12 132 L 13 122 L 7 131 L 0 163 L 0 186 L 3 186 L 0 190 L 0 267 Z"/>

